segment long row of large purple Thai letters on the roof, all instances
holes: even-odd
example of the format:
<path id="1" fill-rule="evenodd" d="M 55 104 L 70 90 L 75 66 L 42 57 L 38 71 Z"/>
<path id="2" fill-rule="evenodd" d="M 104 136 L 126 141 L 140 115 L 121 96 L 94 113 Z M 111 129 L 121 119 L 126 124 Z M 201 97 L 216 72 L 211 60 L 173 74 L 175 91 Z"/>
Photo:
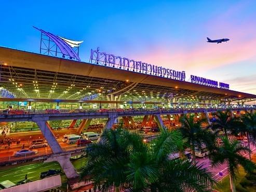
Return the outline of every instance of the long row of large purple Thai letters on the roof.
<path id="1" fill-rule="evenodd" d="M 96 64 L 115 67 L 122 70 L 156 75 L 159 77 L 167 77 L 181 81 L 185 81 L 186 77 L 184 71 L 180 72 L 170 70 L 169 68 L 148 64 L 141 61 L 130 60 L 128 58 L 122 58 L 120 56 L 115 56 L 114 54 L 99 52 L 99 48 L 97 48 L 97 50 L 91 49 L 90 61 Z"/>

